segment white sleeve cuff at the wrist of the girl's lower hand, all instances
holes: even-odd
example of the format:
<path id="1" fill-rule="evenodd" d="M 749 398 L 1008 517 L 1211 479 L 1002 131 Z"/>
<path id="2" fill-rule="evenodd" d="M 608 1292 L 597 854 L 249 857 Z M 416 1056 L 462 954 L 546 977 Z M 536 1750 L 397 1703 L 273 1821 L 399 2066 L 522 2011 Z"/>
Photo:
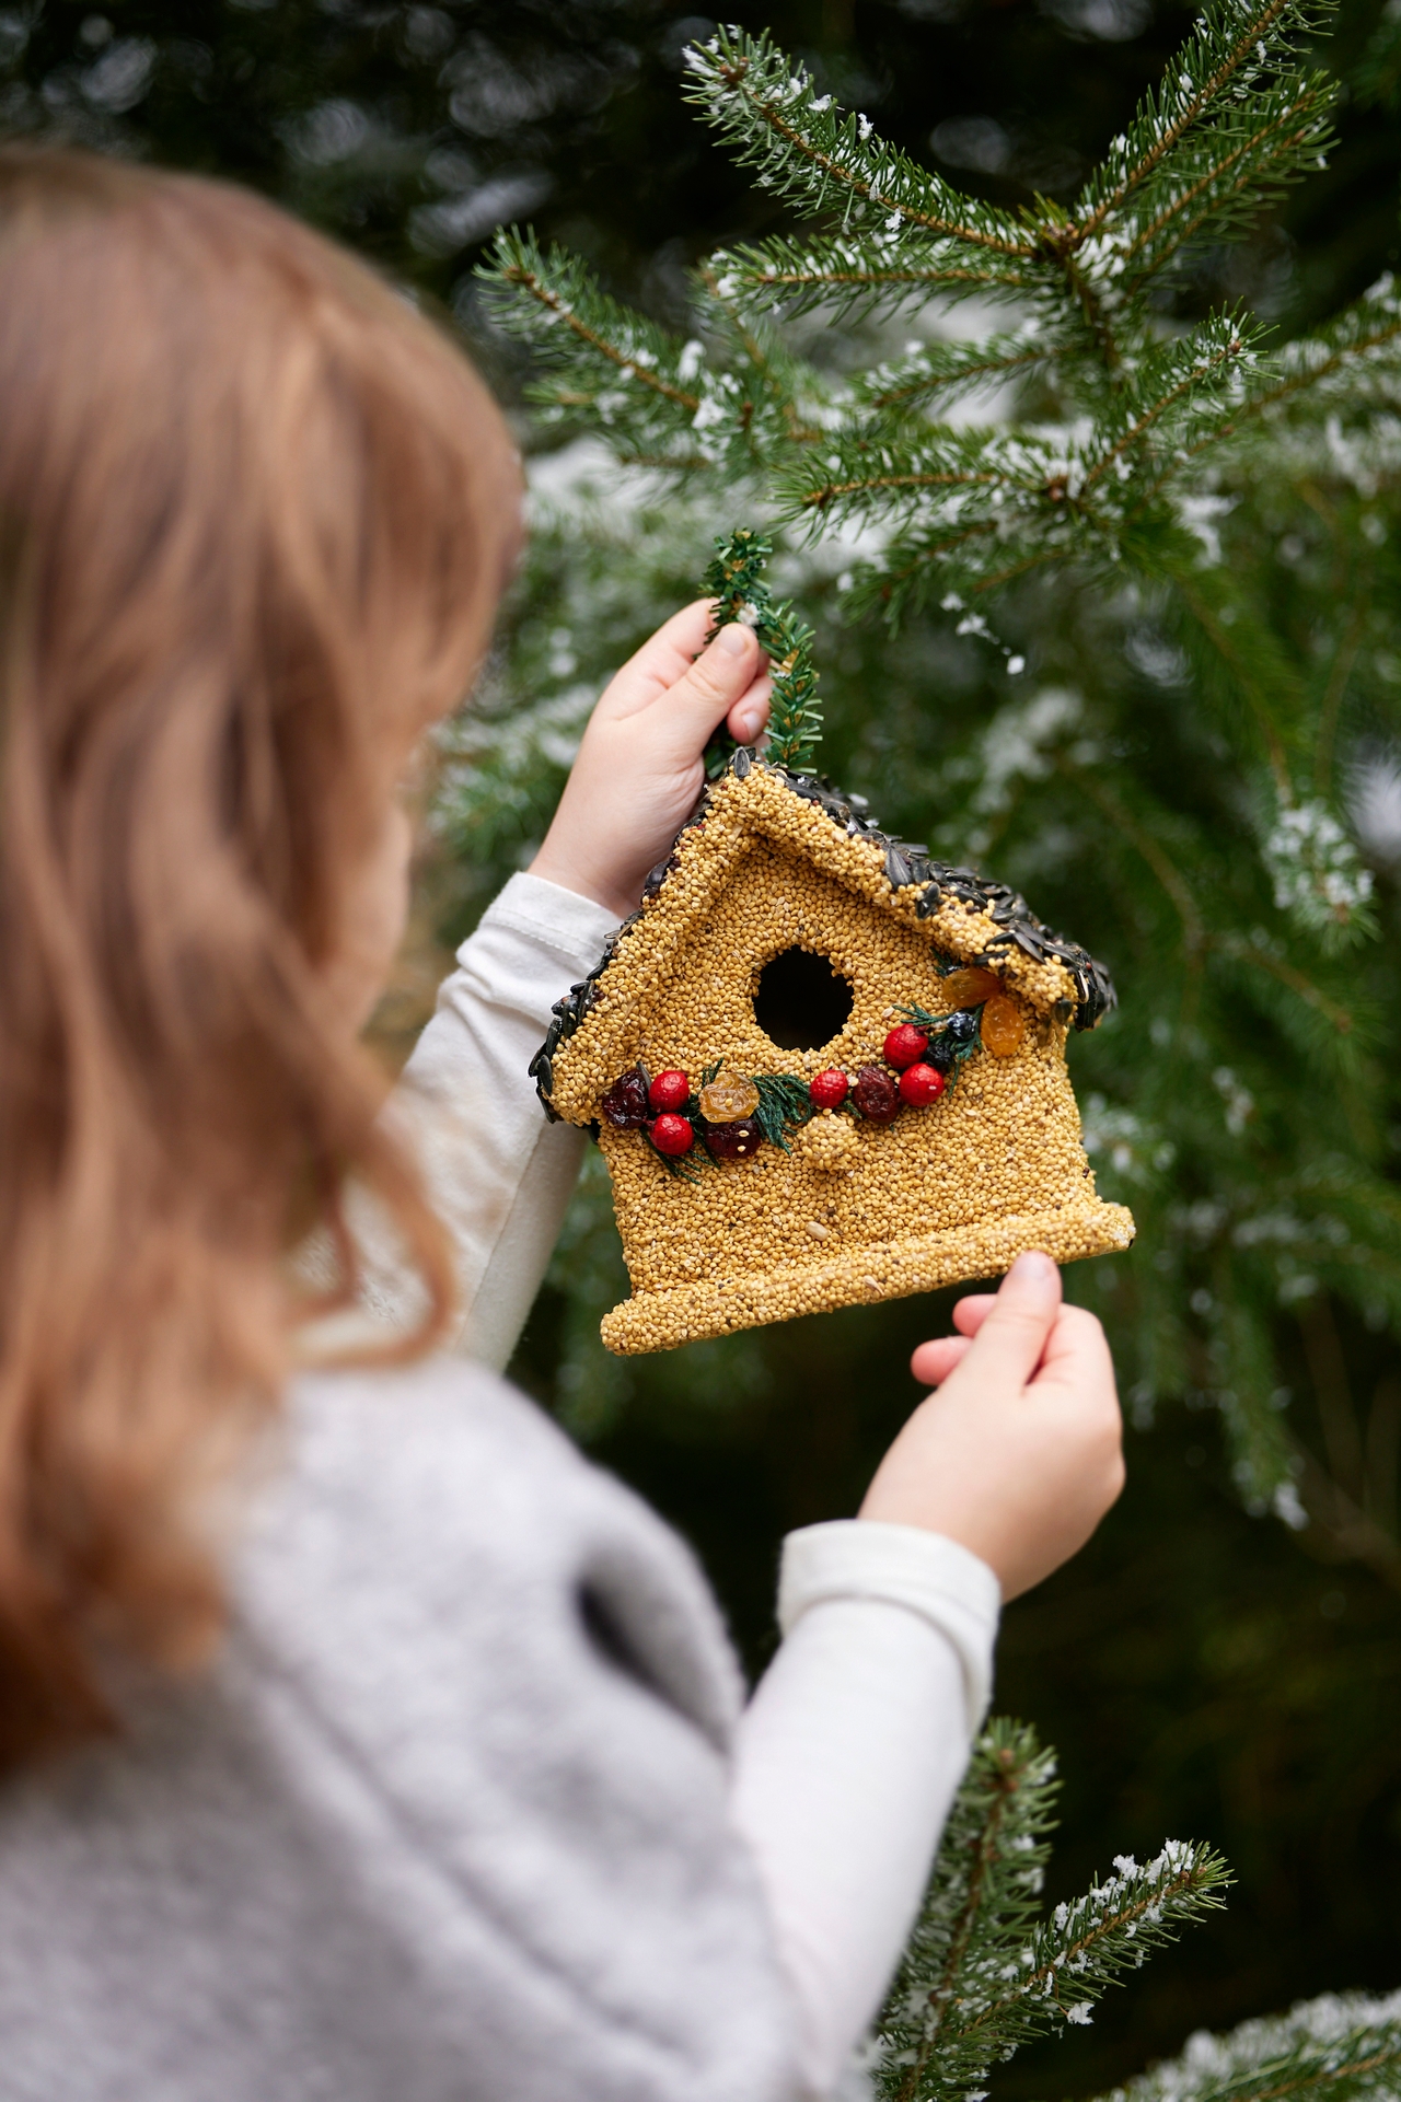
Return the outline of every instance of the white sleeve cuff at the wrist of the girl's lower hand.
<path id="1" fill-rule="evenodd" d="M 972 1740 L 993 1694 L 993 1644 L 1001 1612 L 1001 1587 L 987 1562 L 942 1532 L 888 1526 L 873 1518 L 833 1518 L 789 1532 L 778 1576 L 783 1633 L 812 1606 L 848 1598 L 905 1606 L 953 1644 Z"/>

